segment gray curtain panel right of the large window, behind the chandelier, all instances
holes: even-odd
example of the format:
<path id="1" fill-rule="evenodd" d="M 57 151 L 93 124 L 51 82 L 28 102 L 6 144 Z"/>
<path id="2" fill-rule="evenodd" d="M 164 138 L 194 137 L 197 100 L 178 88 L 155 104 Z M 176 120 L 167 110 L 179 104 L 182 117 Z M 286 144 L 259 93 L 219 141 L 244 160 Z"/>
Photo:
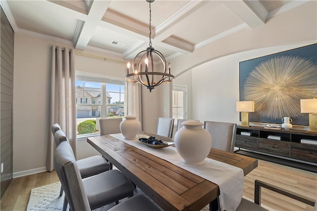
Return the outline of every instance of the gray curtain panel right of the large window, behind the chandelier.
<path id="1" fill-rule="evenodd" d="M 128 115 L 136 116 L 142 126 L 142 89 L 139 83 L 127 82 Z"/>

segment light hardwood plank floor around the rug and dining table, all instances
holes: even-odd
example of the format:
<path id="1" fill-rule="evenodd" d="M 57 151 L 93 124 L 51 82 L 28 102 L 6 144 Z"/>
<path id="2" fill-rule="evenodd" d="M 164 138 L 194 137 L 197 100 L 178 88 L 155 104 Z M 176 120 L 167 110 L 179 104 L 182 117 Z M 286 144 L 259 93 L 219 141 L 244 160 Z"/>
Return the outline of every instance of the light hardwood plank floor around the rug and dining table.
<path id="1" fill-rule="evenodd" d="M 245 176 L 243 195 L 254 199 L 254 180 L 259 179 L 312 199 L 317 199 L 317 174 L 259 160 Z M 1 199 L 1 211 L 25 211 L 32 188 L 59 181 L 55 171 L 14 178 Z M 313 207 L 262 188 L 262 205 L 277 211 L 313 211 Z"/>

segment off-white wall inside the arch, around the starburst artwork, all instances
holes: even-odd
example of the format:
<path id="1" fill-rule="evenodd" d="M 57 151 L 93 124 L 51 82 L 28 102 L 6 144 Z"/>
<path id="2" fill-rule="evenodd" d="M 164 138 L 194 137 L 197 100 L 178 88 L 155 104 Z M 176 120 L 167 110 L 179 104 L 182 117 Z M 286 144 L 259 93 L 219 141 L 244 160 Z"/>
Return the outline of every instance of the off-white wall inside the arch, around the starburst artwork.
<path id="1" fill-rule="evenodd" d="M 239 112 L 236 111 L 236 102 L 239 101 L 239 62 L 309 44 L 236 53 L 193 68 L 193 118 L 240 124 Z"/>

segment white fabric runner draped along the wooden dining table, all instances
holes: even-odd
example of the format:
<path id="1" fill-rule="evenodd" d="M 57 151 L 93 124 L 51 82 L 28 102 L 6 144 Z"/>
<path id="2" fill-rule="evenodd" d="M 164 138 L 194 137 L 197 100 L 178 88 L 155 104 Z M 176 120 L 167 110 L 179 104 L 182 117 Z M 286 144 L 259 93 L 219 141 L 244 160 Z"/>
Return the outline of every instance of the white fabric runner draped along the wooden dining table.
<path id="1" fill-rule="evenodd" d="M 147 135 L 138 135 L 138 138 L 133 140 L 125 140 L 121 133 L 110 135 L 217 184 L 220 189 L 221 211 L 235 211 L 239 206 L 242 199 L 244 181 L 244 173 L 241 168 L 211 158 L 206 158 L 203 165 L 188 165 L 182 162 L 182 158 L 177 153 L 176 148 L 153 149 L 138 140 L 141 137 L 148 138 L 149 136 Z"/>

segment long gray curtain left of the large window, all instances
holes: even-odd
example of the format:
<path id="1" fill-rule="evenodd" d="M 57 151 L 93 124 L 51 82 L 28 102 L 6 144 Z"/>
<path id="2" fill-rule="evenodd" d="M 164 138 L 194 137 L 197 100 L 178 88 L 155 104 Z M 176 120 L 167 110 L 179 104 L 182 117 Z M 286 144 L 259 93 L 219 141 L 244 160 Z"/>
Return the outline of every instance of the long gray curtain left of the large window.
<path id="1" fill-rule="evenodd" d="M 54 169 L 54 150 L 56 148 L 51 126 L 58 123 L 65 132 L 75 157 L 76 142 L 76 105 L 75 105 L 75 56 L 73 49 L 52 47 L 51 92 L 49 116 L 49 142 L 47 152 L 47 169 Z"/>

